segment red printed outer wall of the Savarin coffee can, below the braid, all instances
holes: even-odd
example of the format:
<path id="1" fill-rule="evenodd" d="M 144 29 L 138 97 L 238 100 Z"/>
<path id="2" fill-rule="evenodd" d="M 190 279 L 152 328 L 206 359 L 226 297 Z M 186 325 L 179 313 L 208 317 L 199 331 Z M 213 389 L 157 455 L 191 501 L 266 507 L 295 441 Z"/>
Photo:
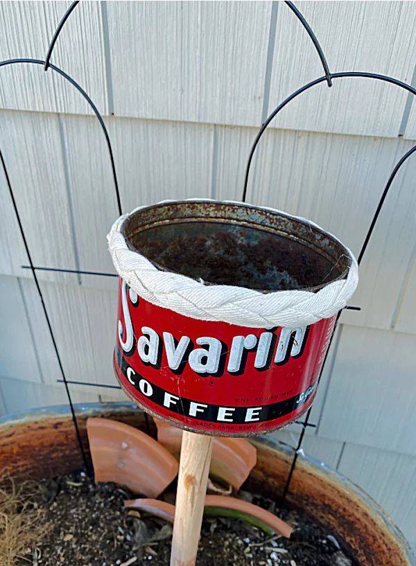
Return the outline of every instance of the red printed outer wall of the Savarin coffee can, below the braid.
<path id="1" fill-rule="evenodd" d="M 311 406 L 334 323 L 266 330 L 193 320 L 120 281 L 114 369 L 139 407 L 176 426 L 265 434 Z"/>

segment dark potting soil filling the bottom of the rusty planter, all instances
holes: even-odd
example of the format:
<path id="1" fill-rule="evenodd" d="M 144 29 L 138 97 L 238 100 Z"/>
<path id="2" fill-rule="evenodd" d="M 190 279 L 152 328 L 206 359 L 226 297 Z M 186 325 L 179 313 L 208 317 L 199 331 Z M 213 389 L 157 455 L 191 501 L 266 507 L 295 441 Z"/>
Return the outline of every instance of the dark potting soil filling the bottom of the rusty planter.
<path id="1" fill-rule="evenodd" d="M 46 511 L 49 534 L 28 549 L 37 566 L 167 566 L 172 526 L 123 507 L 131 495 L 114 484 L 96 486 L 83 472 L 42 484 L 37 505 Z M 241 492 L 269 511 L 275 503 Z M 172 502 L 174 495 L 166 494 Z M 305 515 L 284 511 L 290 539 L 270 537 L 243 520 L 207 517 L 202 524 L 197 566 L 359 566 L 338 542 Z M 30 556 L 29 556 L 30 555 Z M 21 566 L 27 565 L 21 560 Z M 20 566 L 20 565 L 19 565 Z"/>

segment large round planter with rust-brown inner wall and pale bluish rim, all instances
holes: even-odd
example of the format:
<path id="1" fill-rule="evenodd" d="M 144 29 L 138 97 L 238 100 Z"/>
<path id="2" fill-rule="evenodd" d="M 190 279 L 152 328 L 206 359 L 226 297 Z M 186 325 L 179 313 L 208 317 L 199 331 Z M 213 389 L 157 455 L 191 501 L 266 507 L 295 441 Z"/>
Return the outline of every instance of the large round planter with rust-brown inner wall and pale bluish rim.
<path id="1" fill-rule="evenodd" d="M 87 448 L 86 420 L 103 416 L 145 430 L 144 414 L 130 403 L 76 405 Z M 154 425 L 151 427 L 155 434 Z M 257 465 L 247 488 L 278 498 L 293 450 L 259 438 Z M 0 469 L 32 479 L 53 477 L 83 465 L 69 407 L 49 407 L 0 418 Z M 416 557 L 394 522 L 351 481 L 309 457 L 299 457 L 288 504 L 301 508 L 335 533 L 363 566 L 416 566 Z"/>

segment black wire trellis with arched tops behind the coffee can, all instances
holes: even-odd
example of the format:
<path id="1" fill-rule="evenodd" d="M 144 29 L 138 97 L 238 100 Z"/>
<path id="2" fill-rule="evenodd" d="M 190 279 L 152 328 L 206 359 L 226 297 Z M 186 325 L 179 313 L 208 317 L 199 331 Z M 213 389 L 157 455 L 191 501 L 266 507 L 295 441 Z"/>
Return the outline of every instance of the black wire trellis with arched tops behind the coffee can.
<path id="1" fill-rule="evenodd" d="M 58 24 L 58 27 L 55 30 L 55 33 L 53 34 L 53 38 L 51 39 L 51 43 L 49 44 L 48 52 L 46 54 L 46 58 L 45 58 L 44 61 L 37 60 L 37 59 L 12 59 L 12 60 L 5 60 L 5 61 L 0 62 L 0 67 L 6 67 L 7 65 L 15 65 L 15 64 L 42 65 L 44 67 L 44 71 L 48 71 L 48 69 L 52 69 L 52 71 L 55 71 L 55 73 L 58 73 L 65 80 L 69 81 L 71 83 L 71 85 L 73 85 L 73 87 L 75 87 L 78 90 L 78 92 L 83 96 L 83 98 L 85 98 L 85 100 L 87 101 L 89 106 L 92 108 L 94 114 L 96 115 L 96 118 L 98 119 L 98 122 L 100 123 L 101 129 L 103 130 L 103 134 L 105 136 L 105 141 L 107 143 L 107 150 L 108 150 L 108 154 L 109 154 L 110 162 L 111 162 L 111 166 L 112 166 L 112 177 L 113 177 L 113 180 L 114 180 L 114 189 L 115 189 L 115 192 L 116 192 L 117 208 L 118 208 L 119 215 L 121 215 L 121 213 L 122 213 L 121 198 L 120 198 L 120 193 L 119 193 L 119 184 L 117 182 L 116 167 L 115 167 L 115 163 L 114 163 L 114 155 L 113 155 L 113 152 L 112 152 L 112 145 L 111 145 L 111 142 L 110 142 L 110 136 L 108 135 L 107 128 L 105 127 L 105 123 L 103 121 L 103 118 L 102 118 L 100 112 L 98 112 L 96 105 L 94 105 L 93 101 L 91 100 L 91 98 L 89 98 L 89 96 L 85 92 L 85 90 L 82 87 L 80 87 L 80 85 L 78 85 L 78 83 L 75 80 L 73 80 L 73 78 L 71 78 L 67 73 L 62 71 L 62 69 L 55 67 L 55 65 L 53 65 L 51 63 L 51 56 L 52 56 L 52 53 L 53 53 L 53 48 L 55 47 L 55 43 L 58 40 L 58 36 L 59 36 L 60 32 L 62 31 L 62 28 L 64 27 L 64 24 L 66 23 L 67 19 L 71 15 L 71 12 L 73 12 L 73 10 L 76 8 L 78 3 L 79 3 L 78 1 L 74 1 L 73 3 L 71 3 L 71 6 L 69 6 L 69 8 L 67 9 L 67 12 L 65 12 L 65 14 L 64 14 L 64 17 L 62 17 L 60 23 Z M 376 73 L 362 73 L 362 72 L 358 72 L 358 71 L 347 71 L 347 72 L 343 72 L 343 73 L 331 73 L 329 71 L 327 59 L 324 56 L 324 52 L 322 51 L 322 48 L 321 48 L 321 46 L 318 42 L 318 39 L 316 38 L 315 34 L 313 33 L 313 30 L 311 29 L 311 26 L 309 26 L 308 22 L 306 21 L 306 19 L 302 15 L 302 13 L 293 4 L 293 2 L 286 1 L 285 3 L 289 8 L 291 8 L 293 13 L 296 15 L 297 19 L 300 20 L 302 26 L 304 26 L 306 33 L 308 33 L 309 37 L 311 37 L 311 41 L 313 42 L 313 45 L 315 46 L 315 49 L 316 49 L 316 51 L 319 55 L 320 61 L 322 62 L 322 67 L 324 69 L 324 76 L 307 83 L 303 87 L 300 87 L 300 89 L 297 89 L 297 91 L 293 92 L 293 94 L 288 96 L 282 103 L 279 104 L 279 106 L 277 106 L 275 108 L 275 110 L 273 110 L 273 112 L 268 116 L 268 118 L 266 118 L 266 121 L 263 123 L 263 125 L 261 125 L 259 133 L 257 134 L 256 138 L 254 139 L 254 143 L 252 144 L 252 148 L 251 148 L 249 156 L 248 156 L 247 166 L 246 166 L 246 169 L 245 169 L 244 186 L 243 186 L 243 198 L 242 198 L 243 202 L 245 202 L 245 199 L 247 197 L 248 179 L 249 179 L 249 175 L 250 175 L 250 166 L 252 164 L 254 152 L 257 148 L 257 145 L 259 144 L 259 141 L 261 140 L 261 136 L 263 136 L 268 125 L 273 120 L 273 118 L 275 118 L 275 116 L 277 116 L 277 114 L 279 114 L 281 109 L 283 109 L 288 103 L 290 103 L 292 100 L 297 98 L 297 96 L 304 93 L 308 89 L 315 87 L 316 85 L 319 85 L 321 82 L 325 82 L 325 81 L 327 82 L 328 87 L 331 87 L 332 84 L 333 84 L 333 79 L 349 77 L 349 78 L 370 78 L 370 79 L 373 79 L 373 80 L 381 80 L 381 81 L 384 81 L 384 82 L 390 82 L 392 85 L 396 85 L 397 87 L 405 89 L 406 91 L 410 92 L 411 94 L 416 94 L 416 89 L 414 89 L 410 85 L 407 85 L 405 82 L 401 82 L 400 80 L 397 80 L 397 79 L 392 78 L 390 76 L 379 75 L 379 74 L 376 74 Z M 401 166 L 410 157 L 410 155 L 412 155 L 415 151 L 416 151 L 416 145 L 413 148 L 411 148 L 410 150 L 408 150 L 408 152 L 406 152 L 406 154 L 404 154 L 404 156 L 400 159 L 400 161 L 397 163 L 394 170 L 392 171 L 392 173 L 391 173 L 391 175 L 388 179 L 388 182 L 385 184 L 384 191 L 381 195 L 381 198 L 379 200 L 379 204 L 378 204 L 376 211 L 374 213 L 374 216 L 372 218 L 372 222 L 371 222 L 370 227 L 369 227 L 367 234 L 365 236 L 365 240 L 363 242 L 363 246 L 361 247 L 360 254 L 358 255 L 358 265 L 363 260 L 363 256 L 364 256 L 365 251 L 367 249 L 368 243 L 370 242 L 370 238 L 371 238 L 372 233 L 374 231 L 374 227 L 376 225 L 377 219 L 379 218 L 381 208 L 382 208 L 382 206 L 385 202 L 385 198 L 388 195 L 388 191 L 390 190 L 390 186 L 392 185 L 392 182 L 395 179 L 395 177 L 396 177 L 399 169 L 401 168 Z M 85 275 L 96 275 L 96 276 L 106 276 L 106 277 L 116 277 L 116 274 L 104 273 L 104 272 L 83 271 L 83 270 L 79 270 L 79 269 L 61 269 L 61 268 L 55 268 L 55 267 L 40 267 L 40 266 L 33 265 L 31 252 L 29 251 L 28 242 L 27 242 L 27 239 L 26 239 L 26 236 L 25 236 L 23 225 L 21 223 L 19 211 L 17 209 L 17 203 L 16 203 L 16 200 L 15 200 L 15 195 L 13 193 L 12 186 L 10 184 L 10 177 L 8 175 L 8 170 L 6 168 L 6 163 L 3 159 L 3 154 L 1 153 L 1 150 L 0 150 L 0 161 L 1 161 L 1 166 L 3 167 L 4 175 L 6 177 L 6 184 L 8 186 L 8 191 L 10 193 L 10 198 L 12 200 L 12 206 L 13 206 L 13 209 L 15 211 L 17 223 L 19 225 L 19 231 L 21 233 L 21 238 L 23 240 L 24 247 L 26 249 L 26 254 L 28 256 L 29 265 L 22 265 L 21 267 L 23 267 L 24 269 L 31 269 L 31 272 L 33 274 L 33 279 L 35 281 L 37 292 L 39 294 L 40 301 L 42 303 L 44 317 L 46 319 L 46 324 L 49 328 L 49 333 L 51 335 L 53 348 L 54 348 L 55 355 L 57 357 L 58 364 L 59 364 L 59 367 L 60 367 L 60 373 L 62 375 L 62 379 L 58 380 L 58 382 L 61 382 L 61 383 L 64 384 L 64 387 L 65 387 L 65 390 L 66 390 L 66 393 L 67 393 L 67 397 L 68 397 L 69 407 L 71 409 L 73 425 L 74 425 L 74 428 L 75 428 L 75 431 L 76 431 L 76 437 L 77 437 L 77 440 L 78 440 L 80 453 L 81 453 L 81 456 L 83 457 L 83 462 L 84 462 L 84 465 L 85 465 L 87 472 L 89 474 L 91 474 L 92 470 L 89 466 L 89 461 L 86 457 L 85 449 L 83 447 L 83 441 L 82 441 L 81 436 L 80 436 L 80 431 L 79 431 L 79 427 L 78 427 L 78 423 L 77 423 L 77 419 L 76 419 L 76 412 L 73 408 L 71 393 L 69 391 L 69 384 L 81 384 L 81 385 L 91 386 L 91 387 L 107 387 L 109 389 L 120 389 L 120 388 L 119 388 L 118 385 L 96 384 L 96 383 L 77 382 L 77 381 L 67 380 L 65 372 L 64 372 L 64 368 L 62 366 L 62 360 L 60 358 L 58 345 L 57 345 L 57 342 L 56 342 L 56 339 L 55 339 L 55 335 L 53 333 L 53 328 L 51 326 L 51 319 L 49 318 L 49 313 L 48 313 L 48 310 L 46 308 L 46 304 L 44 303 L 42 290 L 40 288 L 40 283 L 39 283 L 39 280 L 37 278 L 36 272 L 37 271 L 51 271 L 51 272 L 65 272 L 65 273 L 73 273 L 73 274 L 85 274 Z M 346 308 L 349 308 L 351 310 L 360 310 L 359 307 L 347 306 Z M 332 342 L 333 335 L 334 335 L 335 330 L 336 330 L 336 326 L 338 324 L 339 317 L 340 317 L 340 313 L 338 313 L 338 317 L 336 319 L 336 324 L 333 328 L 333 333 L 332 333 L 332 336 L 331 336 L 331 342 Z M 329 346 L 331 346 L 331 342 L 329 343 Z M 322 365 L 322 369 L 320 371 L 320 376 L 319 376 L 318 381 L 321 378 L 322 371 L 323 371 L 325 363 L 327 361 L 328 352 L 329 352 L 329 348 L 327 350 L 327 355 L 325 356 L 324 363 Z M 298 457 L 298 454 L 300 454 L 300 450 L 302 448 L 302 442 L 303 442 L 303 439 L 304 439 L 304 434 L 305 434 L 306 428 L 316 426 L 316 425 L 309 423 L 310 416 L 311 416 L 311 408 L 306 413 L 306 417 L 305 417 L 303 422 L 296 421 L 297 424 L 302 426 L 302 432 L 300 434 L 300 439 L 297 443 L 297 447 L 295 449 L 295 454 L 293 456 L 293 460 L 292 460 L 292 463 L 291 463 L 291 468 L 290 468 L 290 471 L 288 473 L 288 478 L 287 478 L 286 484 L 284 486 L 284 493 L 283 493 L 282 498 L 281 498 L 281 506 L 284 506 L 284 504 L 286 502 L 286 497 L 287 497 L 288 490 L 289 490 L 290 485 L 291 485 L 291 479 L 292 479 L 292 476 L 293 476 L 293 472 L 295 470 L 297 457 Z M 147 427 L 147 430 L 149 432 L 150 428 L 149 428 L 148 416 L 147 416 L 146 413 L 145 413 L 145 418 L 146 418 L 146 427 Z"/>

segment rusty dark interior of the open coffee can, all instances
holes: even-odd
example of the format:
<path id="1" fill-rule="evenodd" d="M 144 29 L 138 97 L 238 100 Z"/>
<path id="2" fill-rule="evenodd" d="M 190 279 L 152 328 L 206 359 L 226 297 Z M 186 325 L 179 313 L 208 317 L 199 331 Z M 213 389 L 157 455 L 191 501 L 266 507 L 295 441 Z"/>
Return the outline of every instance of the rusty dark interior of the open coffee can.
<path id="1" fill-rule="evenodd" d="M 318 290 L 351 265 L 349 251 L 323 230 L 243 204 L 157 204 L 132 213 L 121 232 L 157 267 L 208 285 Z"/>

